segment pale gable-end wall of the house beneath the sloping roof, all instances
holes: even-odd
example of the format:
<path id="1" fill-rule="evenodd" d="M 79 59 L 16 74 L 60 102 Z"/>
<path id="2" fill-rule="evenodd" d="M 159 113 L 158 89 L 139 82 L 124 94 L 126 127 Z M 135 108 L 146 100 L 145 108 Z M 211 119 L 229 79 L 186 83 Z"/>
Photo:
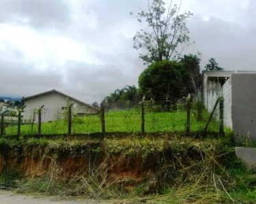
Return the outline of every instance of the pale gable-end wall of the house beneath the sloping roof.
<path id="1" fill-rule="evenodd" d="M 33 112 L 35 109 L 38 109 L 42 105 L 42 122 L 48 122 L 52 120 L 61 119 L 64 117 L 65 110 L 62 107 L 67 107 L 68 104 L 74 103 L 72 111 L 74 114 L 95 114 L 95 109 L 85 106 L 78 101 L 72 99 L 67 99 L 63 95 L 60 95 L 57 92 L 49 92 L 45 95 L 40 95 L 38 97 L 33 97 L 31 99 L 25 100 L 24 116 L 23 120 L 32 120 Z M 35 122 L 38 120 L 37 115 L 35 117 Z"/>

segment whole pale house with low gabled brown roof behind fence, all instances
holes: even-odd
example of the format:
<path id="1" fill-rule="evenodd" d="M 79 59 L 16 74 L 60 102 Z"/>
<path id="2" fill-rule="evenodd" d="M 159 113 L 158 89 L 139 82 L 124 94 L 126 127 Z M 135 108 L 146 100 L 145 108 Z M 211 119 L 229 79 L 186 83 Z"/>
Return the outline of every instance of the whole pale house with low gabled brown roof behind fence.
<path id="1" fill-rule="evenodd" d="M 44 105 L 42 108 L 42 122 L 63 118 L 68 109 L 68 105 L 71 103 L 74 103 L 72 106 L 72 113 L 77 116 L 97 114 L 99 111 L 98 108 L 84 103 L 83 101 L 79 101 L 78 99 L 74 99 L 55 89 L 30 97 L 23 97 L 21 100 L 26 105 L 23 116 L 25 122 L 31 120 L 37 121 L 37 110 L 42 107 L 42 105 Z"/>

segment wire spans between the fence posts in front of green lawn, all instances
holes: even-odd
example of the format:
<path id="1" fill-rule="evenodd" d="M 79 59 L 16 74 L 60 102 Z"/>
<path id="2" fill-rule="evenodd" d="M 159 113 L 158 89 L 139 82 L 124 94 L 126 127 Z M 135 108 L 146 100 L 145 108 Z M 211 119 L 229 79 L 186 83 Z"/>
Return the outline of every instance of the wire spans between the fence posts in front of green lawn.
<path id="1" fill-rule="evenodd" d="M 187 101 L 145 101 L 145 133 L 185 132 L 187 121 Z M 197 104 L 193 103 L 190 110 L 190 131 L 203 131 L 210 114 L 203 109 L 201 120 L 198 119 Z M 141 103 L 106 104 L 106 132 L 141 133 Z M 41 134 L 68 133 L 68 120 L 57 119 L 42 122 Z M 211 120 L 208 131 L 218 132 L 219 122 Z M 100 133 L 102 131 L 100 114 L 76 116 L 72 115 L 71 133 Z M 3 135 L 17 135 L 17 122 L 5 122 Z M 36 122 L 21 123 L 20 135 L 38 134 Z"/>

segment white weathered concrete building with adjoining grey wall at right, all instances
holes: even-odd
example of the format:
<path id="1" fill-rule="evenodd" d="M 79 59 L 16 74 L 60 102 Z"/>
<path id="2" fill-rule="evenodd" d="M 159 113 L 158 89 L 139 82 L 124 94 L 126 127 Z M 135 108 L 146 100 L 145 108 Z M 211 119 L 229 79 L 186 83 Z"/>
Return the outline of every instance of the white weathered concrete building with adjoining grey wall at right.
<path id="1" fill-rule="evenodd" d="M 203 71 L 203 104 L 208 112 L 224 99 L 224 124 L 238 137 L 256 140 L 256 71 Z M 217 106 L 214 118 L 219 119 Z"/>

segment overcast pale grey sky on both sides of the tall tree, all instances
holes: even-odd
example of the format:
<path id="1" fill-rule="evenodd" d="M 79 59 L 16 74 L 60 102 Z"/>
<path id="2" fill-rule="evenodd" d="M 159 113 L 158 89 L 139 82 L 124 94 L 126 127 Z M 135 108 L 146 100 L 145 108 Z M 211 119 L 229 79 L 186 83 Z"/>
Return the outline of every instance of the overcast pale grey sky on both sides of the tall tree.
<path id="1" fill-rule="evenodd" d="M 0 95 L 29 96 L 53 88 L 87 103 L 136 85 L 145 69 L 130 16 L 147 0 L 0 0 Z M 256 64 L 255 0 L 183 0 L 190 39 L 227 70 Z"/>

